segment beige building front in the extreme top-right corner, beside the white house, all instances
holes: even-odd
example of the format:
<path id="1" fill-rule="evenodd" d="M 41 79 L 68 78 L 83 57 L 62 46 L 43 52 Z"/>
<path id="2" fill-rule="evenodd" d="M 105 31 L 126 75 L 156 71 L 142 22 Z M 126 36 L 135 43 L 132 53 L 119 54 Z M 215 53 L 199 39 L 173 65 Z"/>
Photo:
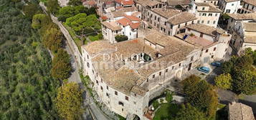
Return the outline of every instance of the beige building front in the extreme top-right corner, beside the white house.
<path id="1" fill-rule="evenodd" d="M 256 1 L 255 0 L 242 0 L 242 8 L 237 12 L 240 14 L 249 14 L 256 11 Z"/>

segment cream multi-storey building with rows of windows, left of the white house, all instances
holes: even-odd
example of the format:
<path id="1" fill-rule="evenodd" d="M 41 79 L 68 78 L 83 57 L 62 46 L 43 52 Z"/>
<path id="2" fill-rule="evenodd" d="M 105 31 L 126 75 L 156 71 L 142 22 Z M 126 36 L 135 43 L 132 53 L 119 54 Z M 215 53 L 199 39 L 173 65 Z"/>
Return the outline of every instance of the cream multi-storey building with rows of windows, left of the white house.
<path id="1" fill-rule="evenodd" d="M 217 27 L 219 16 L 222 13 L 220 9 L 209 3 L 194 3 L 192 2 L 192 9 L 189 10 L 195 14 L 198 24 L 205 24 L 208 26 Z"/>

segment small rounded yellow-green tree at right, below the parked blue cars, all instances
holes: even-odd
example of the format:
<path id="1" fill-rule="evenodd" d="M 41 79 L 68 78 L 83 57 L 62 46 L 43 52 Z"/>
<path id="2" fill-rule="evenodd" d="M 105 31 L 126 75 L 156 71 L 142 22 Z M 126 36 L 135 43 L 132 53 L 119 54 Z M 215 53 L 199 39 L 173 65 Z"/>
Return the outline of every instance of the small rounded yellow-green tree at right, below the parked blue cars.
<path id="1" fill-rule="evenodd" d="M 215 78 L 215 84 L 221 89 L 232 89 L 232 77 L 230 74 L 221 74 Z"/>

